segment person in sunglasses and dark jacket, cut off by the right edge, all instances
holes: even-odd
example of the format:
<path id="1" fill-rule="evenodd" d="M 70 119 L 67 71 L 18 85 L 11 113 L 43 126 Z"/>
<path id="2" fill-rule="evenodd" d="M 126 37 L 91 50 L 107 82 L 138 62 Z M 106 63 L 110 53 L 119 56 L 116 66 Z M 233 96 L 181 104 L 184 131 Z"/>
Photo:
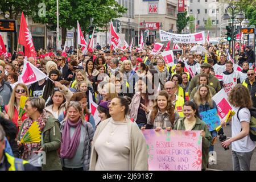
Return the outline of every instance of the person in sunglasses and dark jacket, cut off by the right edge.
<path id="1" fill-rule="evenodd" d="M 253 100 L 253 107 L 256 107 L 256 81 L 254 69 L 249 69 L 247 71 L 247 78 L 242 82 L 242 85 L 246 86 L 249 90 L 251 100 Z"/>

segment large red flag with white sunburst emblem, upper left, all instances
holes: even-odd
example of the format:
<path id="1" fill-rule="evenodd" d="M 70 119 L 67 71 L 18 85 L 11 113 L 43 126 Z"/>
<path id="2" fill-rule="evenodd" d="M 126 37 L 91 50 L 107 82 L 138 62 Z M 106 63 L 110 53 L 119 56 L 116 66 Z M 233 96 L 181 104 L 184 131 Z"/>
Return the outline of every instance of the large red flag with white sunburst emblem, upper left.
<path id="1" fill-rule="evenodd" d="M 32 35 L 30 34 L 30 30 L 28 30 L 23 12 L 20 19 L 18 43 L 25 47 L 25 57 L 35 57 L 36 60 L 36 51 L 32 40 Z"/>

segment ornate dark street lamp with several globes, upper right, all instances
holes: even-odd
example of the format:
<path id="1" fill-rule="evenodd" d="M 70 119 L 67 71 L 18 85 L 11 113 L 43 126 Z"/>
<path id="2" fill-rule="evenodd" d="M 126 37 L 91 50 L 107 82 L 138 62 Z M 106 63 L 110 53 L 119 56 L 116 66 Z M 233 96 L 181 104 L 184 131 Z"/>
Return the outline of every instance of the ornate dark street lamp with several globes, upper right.
<path id="1" fill-rule="evenodd" d="M 235 47 L 234 47 L 234 19 L 239 19 L 242 21 L 242 19 L 245 18 L 245 15 L 242 13 L 242 9 L 240 6 L 228 6 L 225 9 L 225 13 L 222 16 L 222 19 L 226 20 L 226 19 L 230 19 L 230 16 L 228 14 L 228 10 L 231 9 L 232 10 L 232 14 L 231 14 L 231 19 L 232 19 L 232 58 L 234 59 L 234 54 L 235 54 Z M 236 9 L 240 9 L 240 12 L 235 16 L 235 10 Z"/>

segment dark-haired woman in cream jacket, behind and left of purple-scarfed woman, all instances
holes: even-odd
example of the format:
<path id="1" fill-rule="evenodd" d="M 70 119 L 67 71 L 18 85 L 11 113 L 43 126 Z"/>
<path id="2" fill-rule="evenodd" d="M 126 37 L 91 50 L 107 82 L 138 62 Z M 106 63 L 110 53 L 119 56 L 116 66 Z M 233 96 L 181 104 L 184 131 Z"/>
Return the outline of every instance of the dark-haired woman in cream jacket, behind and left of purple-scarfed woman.
<path id="1" fill-rule="evenodd" d="M 67 88 L 67 86 L 62 85 L 60 82 L 54 82 L 55 88 L 51 94 L 51 99 L 46 104 L 46 113 L 48 116 L 53 118 L 59 118 L 59 115 L 66 110 L 66 103 L 69 102 L 73 93 Z"/>

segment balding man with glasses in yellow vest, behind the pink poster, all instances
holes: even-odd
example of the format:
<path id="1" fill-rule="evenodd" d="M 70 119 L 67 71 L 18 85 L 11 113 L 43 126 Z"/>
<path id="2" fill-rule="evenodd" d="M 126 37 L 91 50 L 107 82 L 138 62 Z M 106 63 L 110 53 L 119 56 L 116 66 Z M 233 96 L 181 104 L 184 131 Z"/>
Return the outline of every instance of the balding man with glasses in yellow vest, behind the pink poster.
<path id="1" fill-rule="evenodd" d="M 164 84 L 164 91 L 166 91 L 170 96 L 172 105 L 175 106 L 175 110 L 179 113 L 180 117 L 184 117 L 184 114 L 183 114 L 184 98 L 177 96 L 175 94 L 177 92 L 177 87 L 175 86 L 175 83 L 172 81 L 167 81 Z"/>

